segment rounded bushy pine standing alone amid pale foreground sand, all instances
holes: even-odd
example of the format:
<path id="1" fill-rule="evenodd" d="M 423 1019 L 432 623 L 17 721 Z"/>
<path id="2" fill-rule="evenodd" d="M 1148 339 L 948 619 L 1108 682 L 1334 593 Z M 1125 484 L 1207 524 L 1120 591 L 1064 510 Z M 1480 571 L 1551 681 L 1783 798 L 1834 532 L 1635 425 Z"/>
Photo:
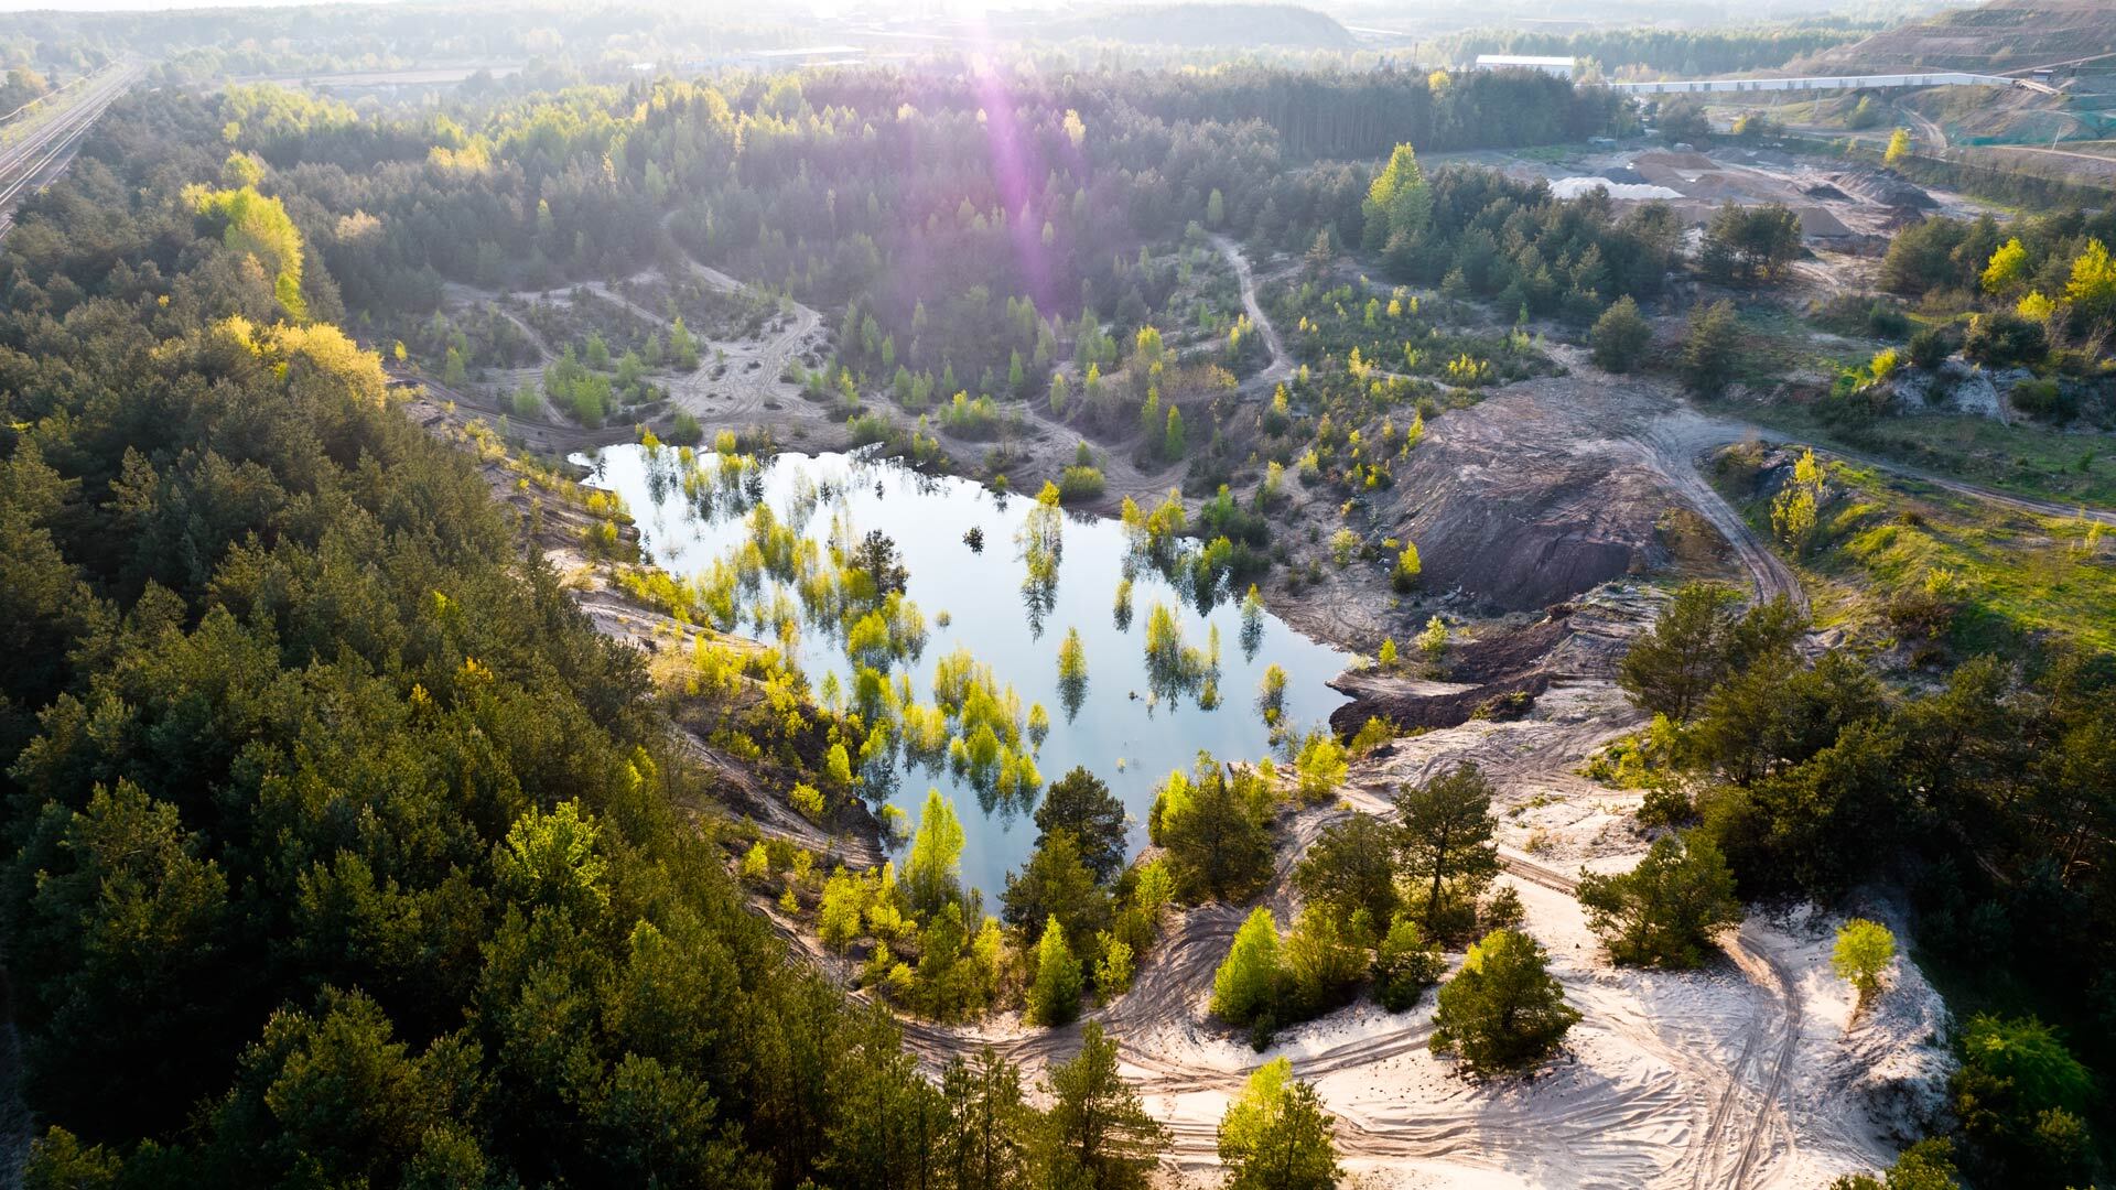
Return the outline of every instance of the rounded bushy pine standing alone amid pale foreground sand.
<path id="1" fill-rule="evenodd" d="M 1456 1054 L 1471 1074 L 1526 1069 L 1549 1057 L 1579 1023 L 1566 991 L 1528 934 L 1494 930 L 1441 985 L 1433 1052 Z"/>

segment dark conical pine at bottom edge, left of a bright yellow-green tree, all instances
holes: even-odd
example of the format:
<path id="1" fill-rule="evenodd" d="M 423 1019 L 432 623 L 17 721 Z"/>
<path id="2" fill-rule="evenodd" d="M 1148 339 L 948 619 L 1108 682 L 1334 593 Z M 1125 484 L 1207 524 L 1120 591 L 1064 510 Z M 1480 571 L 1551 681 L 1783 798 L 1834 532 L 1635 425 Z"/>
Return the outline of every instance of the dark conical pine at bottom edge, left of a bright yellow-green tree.
<path id="1" fill-rule="evenodd" d="M 1052 1105 L 1037 1154 L 1039 1186 L 1147 1190 L 1168 1148 L 1168 1129 L 1117 1076 L 1117 1042 L 1098 1021 L 1081 1027 L 1079 1054 L 1052 1067 L 1043 1093 Z"/>

